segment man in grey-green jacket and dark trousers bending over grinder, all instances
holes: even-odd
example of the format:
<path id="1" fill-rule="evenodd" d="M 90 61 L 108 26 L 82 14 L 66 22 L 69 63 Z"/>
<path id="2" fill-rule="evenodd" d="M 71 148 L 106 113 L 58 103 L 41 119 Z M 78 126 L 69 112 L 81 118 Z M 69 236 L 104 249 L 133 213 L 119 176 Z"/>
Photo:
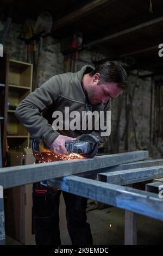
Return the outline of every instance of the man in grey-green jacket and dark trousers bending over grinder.
<path id="1" fill-rule="evenodd" d="M 106 62 L 93 68 L 85 65 L 77 73 L 53 76 L 42 84 L 16 108 L 16 117 L 23 123 L 30 135 L 44 142 L 55 153 L 67 155 L 65 142 L 74 140 L 83 133 L 92 133 L 103 145 L 108 136 L 97 131 L 55 130 L 52 126 L 54 111 L 65 107 L 70 112 L 110 110 L 111 99 L 120 95 L 127 85 L 126 71 L 121 65 Z M 64 120 L 64 119 L 63 119 Z M 106 120 L 105 120 L 106 121 Z M 93 126 L 95 127 L 95 126 Z M 33 211 L 35 239 L 37 245 L 60 245 L 59 196 L 61 191 L 53 190 L 39 183 L 33 187 Z M 73 245 L 92 245 L 90 225 L 86 223 L 87 199 L 62 192 L 66 204 L 67 229 Z"/>

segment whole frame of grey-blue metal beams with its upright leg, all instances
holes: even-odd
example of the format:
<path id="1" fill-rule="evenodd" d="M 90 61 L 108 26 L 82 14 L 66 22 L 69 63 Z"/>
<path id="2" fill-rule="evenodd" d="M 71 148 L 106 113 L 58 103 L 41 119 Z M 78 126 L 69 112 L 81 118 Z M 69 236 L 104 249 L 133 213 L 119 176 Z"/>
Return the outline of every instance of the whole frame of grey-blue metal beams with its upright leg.
<path id="1" fill-rule="evenodd" d="M 148 151 L 133 151 L 94 159 L 0 168 L 0 185 L 9 188 L 48 180 L 49 185 L 62 191 L 125 209 L 125 244 L 135 245 L 137 214 L 163 221 L 163 204 L 156 193 L 122 186 L 163 176 L 163 159 L 139 161 L 147 158 Z M 4 233 L 0 240 L 4 243 Z"/>

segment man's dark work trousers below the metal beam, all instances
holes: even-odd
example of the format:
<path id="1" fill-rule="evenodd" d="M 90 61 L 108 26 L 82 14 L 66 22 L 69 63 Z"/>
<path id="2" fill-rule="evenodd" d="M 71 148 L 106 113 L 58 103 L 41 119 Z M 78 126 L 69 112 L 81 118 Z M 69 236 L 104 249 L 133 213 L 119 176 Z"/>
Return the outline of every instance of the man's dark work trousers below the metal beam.
<path id="1" fill-rule="evenodd" d="M 92 245 L 86 223 L 87 199 L 62 191 L 66 204 L 67 229 L 72 245 Z M 36 245 L 61 245 L 59 198 L 61 191 L 39 183 L 33 185 L 33 220 Z M 60 220 L 62 221 L 62 220 Z"/>

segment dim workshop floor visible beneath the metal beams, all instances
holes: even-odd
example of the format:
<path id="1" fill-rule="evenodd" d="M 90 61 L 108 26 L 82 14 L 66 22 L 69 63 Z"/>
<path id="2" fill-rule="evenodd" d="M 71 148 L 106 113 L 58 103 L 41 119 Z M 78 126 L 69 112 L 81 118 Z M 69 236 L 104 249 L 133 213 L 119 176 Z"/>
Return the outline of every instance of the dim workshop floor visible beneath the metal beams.
<path id="1" fill-rule="evenodd" d="M 88 211 L 87 222 L 91 224 L 94 245 L 124 244 L 124 210 L 109 207 Z M 138 245 L 162 245 L 163 222 L 140 216 L 137 229 Z M 61 232 L 61 241 L 62 245 L 71 245 L 67 231 Z M 7 244 L 21 245 L 10 237 L 7 237 Z"/>

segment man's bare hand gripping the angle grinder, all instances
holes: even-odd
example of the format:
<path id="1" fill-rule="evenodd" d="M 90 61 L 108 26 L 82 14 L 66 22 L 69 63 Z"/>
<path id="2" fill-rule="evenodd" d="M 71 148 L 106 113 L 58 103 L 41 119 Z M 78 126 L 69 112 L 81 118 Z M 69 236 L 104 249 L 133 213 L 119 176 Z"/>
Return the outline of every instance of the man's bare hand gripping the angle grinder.
<path id="1" fill-rule="evenodd" d="M 54 139 L 53 143 L 50 145 L 50 148 L 56 154 L 68 155 L 68 152 L 65 148 L 65 142 L 66 141 L 75 141 L 75 140 L 76 140 L 76 138 L 59 135 L 56 139 Z"/>

